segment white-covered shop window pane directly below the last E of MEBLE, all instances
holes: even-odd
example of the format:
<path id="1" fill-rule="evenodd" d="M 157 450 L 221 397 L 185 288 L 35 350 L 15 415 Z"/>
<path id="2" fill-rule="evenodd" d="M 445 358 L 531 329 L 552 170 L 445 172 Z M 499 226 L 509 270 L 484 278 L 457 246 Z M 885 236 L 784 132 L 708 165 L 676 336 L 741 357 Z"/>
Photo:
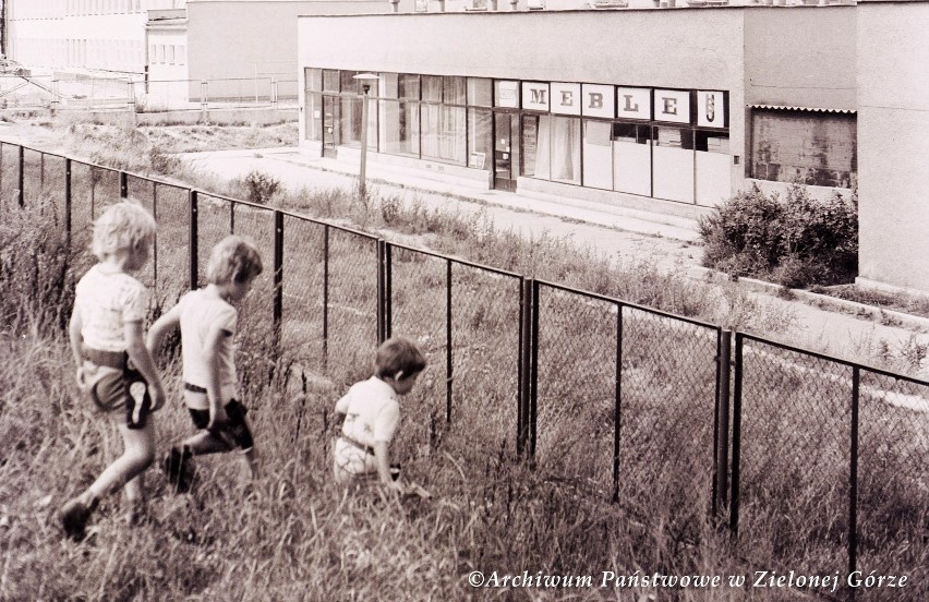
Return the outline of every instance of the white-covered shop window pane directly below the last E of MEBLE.
<path id="1" fill-rule="evenodd" d="M 693 131 L 667 125 L 654 131 L 654 196 L 693 203 Z"/>

